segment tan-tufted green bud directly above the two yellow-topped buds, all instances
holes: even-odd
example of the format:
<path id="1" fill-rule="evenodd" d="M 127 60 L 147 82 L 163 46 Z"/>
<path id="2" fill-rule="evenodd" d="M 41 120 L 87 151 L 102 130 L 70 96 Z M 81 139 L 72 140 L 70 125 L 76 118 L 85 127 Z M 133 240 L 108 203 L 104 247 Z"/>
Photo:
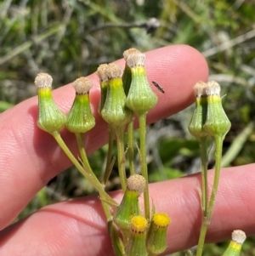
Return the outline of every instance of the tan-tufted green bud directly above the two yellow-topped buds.
<path id="1" fill-rule="evenodd" d="M 140 214 L 139 195 L 144 192 L 145 184 L 146 180 L 139 174 L 134 174 L 127 179 L 127 190 L 113 217 L 121 230 L 128 230 L 131 216 Z"/>

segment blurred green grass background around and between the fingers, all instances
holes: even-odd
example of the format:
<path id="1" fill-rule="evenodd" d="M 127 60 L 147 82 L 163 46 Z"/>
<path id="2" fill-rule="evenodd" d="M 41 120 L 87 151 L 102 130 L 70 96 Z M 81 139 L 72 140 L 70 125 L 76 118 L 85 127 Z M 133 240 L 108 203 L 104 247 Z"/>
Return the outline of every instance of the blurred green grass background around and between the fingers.
<path id="1" fill-rule="evenodd" d="M 210 79 L 226 94 L 224 108 L 232 128 L 224 143 L 224 166 L 255 162 L 254 8 L 253 0 L 1 1 L 0 111 L 37 94 L 33 81 L 38 72 L 51 74 L 56 87 L 122 58 L 127 48 L 144 52 L 185 43 L 207 58 Z M 148 128 L 151 182 L 199 170 L 198 144 L 187 132 L 192 111 L 191 106 Z M 98 176 L 106 151 L 107 146 L 90 156 Z M 118 184 L 114 170 L 107 188 Z M 93 192 L 76 169 L 68 169 L 51 180 L 18 219 L 48 203 Z M 255 255 L 254 242 L 246 242 L 242 255 Z M 207 245 L 204 255 L 221 255 L 226 245 Z"/>

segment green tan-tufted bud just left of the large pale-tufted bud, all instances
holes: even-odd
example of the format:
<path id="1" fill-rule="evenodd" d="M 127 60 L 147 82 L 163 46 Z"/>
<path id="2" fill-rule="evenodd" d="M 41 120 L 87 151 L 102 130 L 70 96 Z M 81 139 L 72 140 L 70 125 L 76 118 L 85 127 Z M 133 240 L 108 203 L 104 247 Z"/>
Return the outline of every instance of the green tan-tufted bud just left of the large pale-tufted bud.
<path id="1" fill-rule="evenodd" d="M 122 69 L 116 63 L 111 63 L 105 69 L 105 74 L 109 78 L 109 86 L 101 116 L 105 122 L 111 125 L 125 126 L 131 121 L 133 114 L 125 104 L 126 95 L 122 86 Z"/>

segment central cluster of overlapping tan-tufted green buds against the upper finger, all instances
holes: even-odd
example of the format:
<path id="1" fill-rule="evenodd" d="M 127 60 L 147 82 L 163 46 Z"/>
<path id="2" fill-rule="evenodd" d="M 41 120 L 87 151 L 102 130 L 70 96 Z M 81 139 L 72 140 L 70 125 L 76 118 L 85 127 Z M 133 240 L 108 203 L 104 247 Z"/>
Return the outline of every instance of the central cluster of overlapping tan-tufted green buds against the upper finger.
<path id="1" fill-rule="evenodd" d="M 150 88 L 144 69 L 145 54 L 135 48 L 124 52 L 126 65 L 99 65 L 101 100 L 99 113 L 111 125 L 126 125 L 136 114 L 149 111 L 156 105 L 156 94 Z M 122 75 L 123 73 L 123 75 Z"/>

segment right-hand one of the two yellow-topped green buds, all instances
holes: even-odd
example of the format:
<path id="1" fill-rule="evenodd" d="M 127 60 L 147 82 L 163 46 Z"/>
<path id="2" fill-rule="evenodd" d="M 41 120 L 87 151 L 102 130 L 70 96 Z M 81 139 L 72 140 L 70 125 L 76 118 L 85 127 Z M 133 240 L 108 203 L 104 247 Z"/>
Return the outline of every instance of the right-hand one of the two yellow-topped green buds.
<path id="1" fill-rule="evenodd" d="M 167 248 L 167 227 L 171 219 L 167 213 L 156 213 L 152 217 L 147 238 L 147 249 L 152 255 L 163 253 Z"/>

